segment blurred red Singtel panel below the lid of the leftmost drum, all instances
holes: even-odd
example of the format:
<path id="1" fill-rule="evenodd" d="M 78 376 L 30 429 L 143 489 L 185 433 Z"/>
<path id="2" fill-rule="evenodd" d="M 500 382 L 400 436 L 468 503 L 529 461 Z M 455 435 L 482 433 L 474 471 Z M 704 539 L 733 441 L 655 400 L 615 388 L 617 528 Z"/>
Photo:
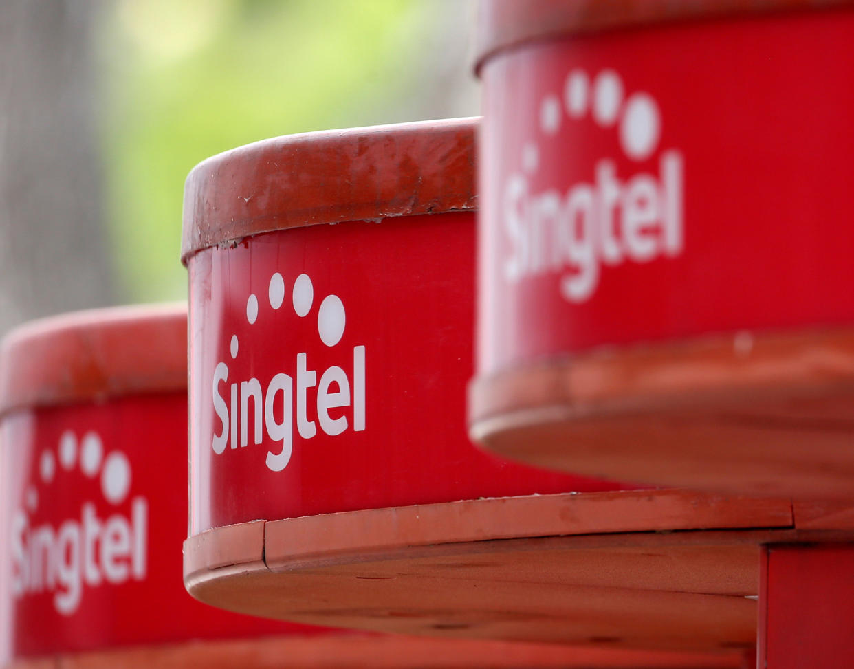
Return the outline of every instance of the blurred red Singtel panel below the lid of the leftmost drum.
<path id="1" fill-rule="evenodd" d="M 186 422 L 184 392 L 3 417 L 3 658 L 319 629 L 184 590 Z"/>

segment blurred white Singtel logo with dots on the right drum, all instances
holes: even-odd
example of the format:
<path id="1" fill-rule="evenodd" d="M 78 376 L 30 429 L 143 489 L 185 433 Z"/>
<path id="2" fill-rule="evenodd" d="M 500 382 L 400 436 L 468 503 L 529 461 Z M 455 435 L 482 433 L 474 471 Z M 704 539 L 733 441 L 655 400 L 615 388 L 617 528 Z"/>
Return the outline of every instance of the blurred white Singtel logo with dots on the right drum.
<path id="1" fill-rule="evenodd" d="M 649 160 L 658 147 L 661 114 L 655 99 L 635 92 L 623 99 L 623 82 L 612 70 L 591 84 L 580 69 L 565 79 L 563 100 L 549 94 L 540 105 L 546 143 L 564 122 L 591 113 L 602 128 L 617 126 L 619 144 L 632 161 Z M 564 191 L 533 192 L 540 144 L 524 144 L 521 169 L 506 180 L 501 217 L 510 255 L 502 272 L 512 284 L 544 273 L 562 273 L 559 290 L 573 303 L 585 302 L 599 285 L 603 267 L 680 255 L 683 247 L 684 159 L 678 150 L 658 156 L 658 173 L 621 177 L 616 162 L 603 157 L 591 179 Z"/>

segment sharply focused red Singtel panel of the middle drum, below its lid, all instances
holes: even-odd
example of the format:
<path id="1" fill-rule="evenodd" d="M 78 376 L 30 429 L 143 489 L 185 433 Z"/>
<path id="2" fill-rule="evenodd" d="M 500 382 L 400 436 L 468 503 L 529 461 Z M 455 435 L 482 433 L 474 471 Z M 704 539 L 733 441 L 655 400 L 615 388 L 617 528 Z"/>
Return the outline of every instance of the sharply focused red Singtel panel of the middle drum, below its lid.
<path id="1" fill-rule="evenodd" d="M 613 490 L 465 436 L 474 214 L 309 226 L 191 256 L 190 533 Z"/>

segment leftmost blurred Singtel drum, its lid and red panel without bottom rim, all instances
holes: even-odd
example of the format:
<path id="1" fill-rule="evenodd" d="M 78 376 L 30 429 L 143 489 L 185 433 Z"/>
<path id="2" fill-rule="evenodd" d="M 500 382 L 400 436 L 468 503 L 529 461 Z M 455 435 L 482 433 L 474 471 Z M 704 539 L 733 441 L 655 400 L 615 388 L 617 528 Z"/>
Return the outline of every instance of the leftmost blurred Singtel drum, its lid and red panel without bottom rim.
<path id="1" fill-rule="evenodd" d="M 186 308 L 67 314 L 0 353 L 3 660 L 312 631 L 181 585 Z"/>

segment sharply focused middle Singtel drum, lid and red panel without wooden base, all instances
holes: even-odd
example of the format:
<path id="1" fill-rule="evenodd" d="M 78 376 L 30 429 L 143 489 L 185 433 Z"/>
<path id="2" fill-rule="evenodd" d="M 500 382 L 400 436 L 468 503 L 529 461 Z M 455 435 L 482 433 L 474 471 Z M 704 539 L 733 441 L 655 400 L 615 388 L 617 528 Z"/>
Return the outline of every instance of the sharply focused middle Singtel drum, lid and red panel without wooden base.
<path id="1" fill-rule="evenodd" d="M 190 534 L 615 487 L 465 437 L 476 126 L 274 138 L 190 173 Z"/>

